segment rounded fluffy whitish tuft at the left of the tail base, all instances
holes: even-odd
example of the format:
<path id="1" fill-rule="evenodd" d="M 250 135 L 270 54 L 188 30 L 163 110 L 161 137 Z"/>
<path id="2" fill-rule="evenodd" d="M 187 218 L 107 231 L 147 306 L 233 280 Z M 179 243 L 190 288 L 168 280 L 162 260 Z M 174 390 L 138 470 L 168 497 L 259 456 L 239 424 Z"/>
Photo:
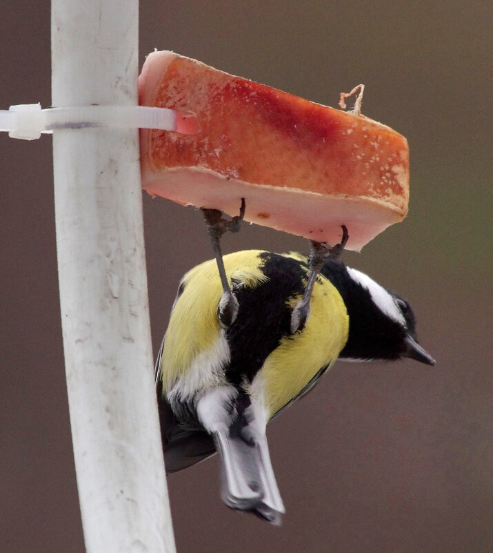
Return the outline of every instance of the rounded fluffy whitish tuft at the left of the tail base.
<path id="1" fill-rule="evenodd" d="M 230 409 L 232 400 L 238 395 L 232 386 L 218 386 L 206 391 L 197 402 L 197 415 L 208 432 L 226 431 L 233 422 Z"/>

